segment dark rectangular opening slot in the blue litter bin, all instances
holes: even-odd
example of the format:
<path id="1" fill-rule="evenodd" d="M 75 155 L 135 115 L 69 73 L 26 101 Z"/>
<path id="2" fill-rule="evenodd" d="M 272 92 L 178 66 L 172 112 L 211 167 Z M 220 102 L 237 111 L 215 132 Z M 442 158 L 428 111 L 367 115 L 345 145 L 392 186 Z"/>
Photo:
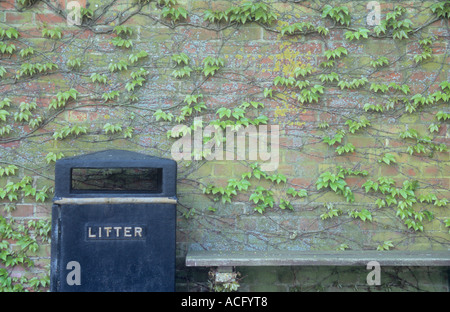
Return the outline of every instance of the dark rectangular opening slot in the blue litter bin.
<path id="1" fill-rule="evenodd" d="M 72 168 L 71 175 L 75 192 L 162 192 L 162 168 Z"/>

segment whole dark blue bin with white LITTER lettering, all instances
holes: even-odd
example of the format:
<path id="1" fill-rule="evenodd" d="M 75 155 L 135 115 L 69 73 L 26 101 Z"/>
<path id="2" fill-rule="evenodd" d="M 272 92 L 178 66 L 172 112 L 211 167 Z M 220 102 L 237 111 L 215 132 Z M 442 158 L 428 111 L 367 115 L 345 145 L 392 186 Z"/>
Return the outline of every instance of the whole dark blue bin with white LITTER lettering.
<path id="1" fill-rule="evenodd" d="M 51 291 L 174 291 L 176 177 L 130 151 L 58 160 Z"/>

